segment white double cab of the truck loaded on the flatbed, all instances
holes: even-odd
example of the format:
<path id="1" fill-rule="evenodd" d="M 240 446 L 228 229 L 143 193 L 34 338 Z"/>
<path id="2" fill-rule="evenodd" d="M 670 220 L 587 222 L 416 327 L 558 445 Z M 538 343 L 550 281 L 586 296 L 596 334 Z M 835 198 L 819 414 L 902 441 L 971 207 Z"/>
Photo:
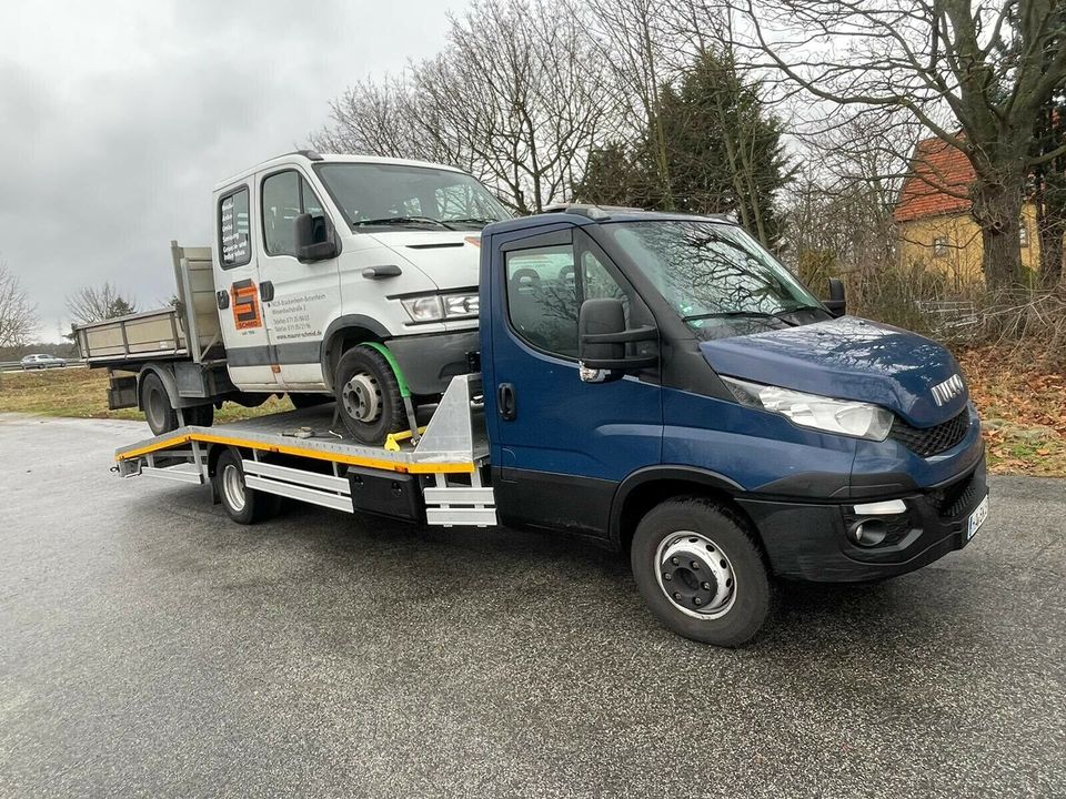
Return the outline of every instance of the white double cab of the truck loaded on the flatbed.
<path id="1" fill-rule="evenodd" d="M 282 155 L 214 188 L 227 371 L 247 393 L 336 398 L 358 441 L 408 426 L 477 350 L 481 229 L 510 214 L 471 175 Z"/>

